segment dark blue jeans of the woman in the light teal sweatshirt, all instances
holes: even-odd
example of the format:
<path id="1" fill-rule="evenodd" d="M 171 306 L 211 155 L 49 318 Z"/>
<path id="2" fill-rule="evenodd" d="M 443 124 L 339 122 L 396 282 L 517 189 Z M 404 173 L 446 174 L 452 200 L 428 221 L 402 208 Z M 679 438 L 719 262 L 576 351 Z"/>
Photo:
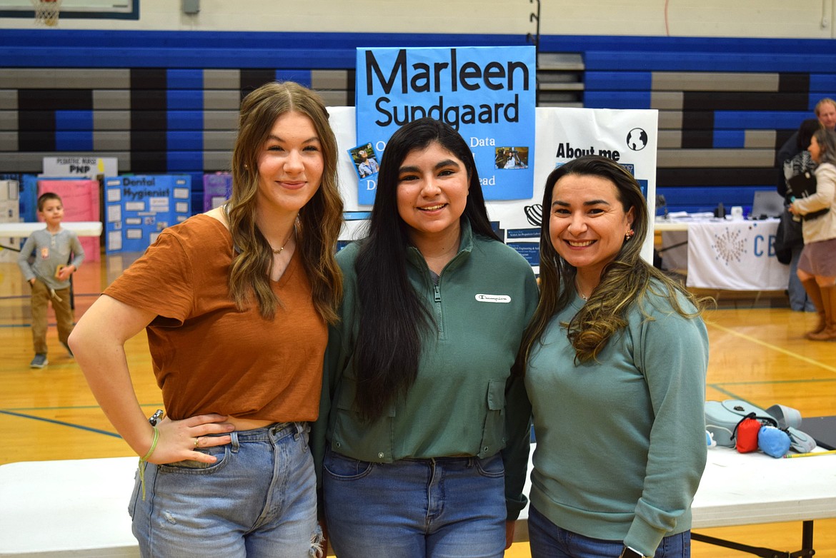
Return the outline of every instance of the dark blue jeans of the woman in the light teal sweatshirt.
<path id="1" fill-rule="evenodd" d="M 591 539 L 561 529 L 534 509 L 528 508 L 528 540 L 532 558 L 616 558 L 623 540 Z M 666 536 L 654 558 L 691 558 L 691 531 Z"/>

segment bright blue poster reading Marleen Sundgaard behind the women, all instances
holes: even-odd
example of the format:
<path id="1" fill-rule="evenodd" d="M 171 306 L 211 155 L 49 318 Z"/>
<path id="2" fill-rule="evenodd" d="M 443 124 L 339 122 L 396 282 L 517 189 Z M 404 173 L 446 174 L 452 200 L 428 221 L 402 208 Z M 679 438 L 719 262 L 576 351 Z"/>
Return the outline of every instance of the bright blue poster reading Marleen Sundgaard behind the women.
<path id="1" fill-rule="evenodd" d="M 401 125 L 430 116 L 470 145 L 486 200 L 533 196 L 534 47 L 358 48 L 357 143 L 378 154 Z M 377 176 L 359 180 L 375 201 Z"/>

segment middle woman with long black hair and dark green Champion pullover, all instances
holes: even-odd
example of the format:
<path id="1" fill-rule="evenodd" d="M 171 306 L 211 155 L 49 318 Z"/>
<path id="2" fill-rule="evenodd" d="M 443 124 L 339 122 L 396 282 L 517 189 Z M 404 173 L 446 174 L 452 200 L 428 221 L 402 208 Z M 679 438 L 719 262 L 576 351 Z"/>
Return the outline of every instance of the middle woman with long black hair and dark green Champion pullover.
<path id="1" fill-rule="evenodd" d="M 455 129 L 392 134 L 369 236 L 337 260 L 314 435 L 334 551 L 500 558 L 526 503 L 530 408 L 511 368 L 537 283 L 492 230 Z"/>

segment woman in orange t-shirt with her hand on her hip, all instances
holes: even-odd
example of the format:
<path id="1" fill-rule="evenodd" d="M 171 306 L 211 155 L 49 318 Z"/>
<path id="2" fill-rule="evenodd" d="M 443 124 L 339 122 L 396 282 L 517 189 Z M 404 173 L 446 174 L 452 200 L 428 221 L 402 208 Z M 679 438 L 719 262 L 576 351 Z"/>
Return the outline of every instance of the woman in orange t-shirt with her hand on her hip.
<path id="1" fill-rule="evenodd" d="M 321 553 L 308 421 L 342 291 L 336 161 L 318 95 L 290 82 L 248 94 L 232 199 L 162 231 L 70 337 L 144 456 L 129 506 L 143 556 Z M 145 418 L 125 361 L 143 328 L 162 420 Z"/>

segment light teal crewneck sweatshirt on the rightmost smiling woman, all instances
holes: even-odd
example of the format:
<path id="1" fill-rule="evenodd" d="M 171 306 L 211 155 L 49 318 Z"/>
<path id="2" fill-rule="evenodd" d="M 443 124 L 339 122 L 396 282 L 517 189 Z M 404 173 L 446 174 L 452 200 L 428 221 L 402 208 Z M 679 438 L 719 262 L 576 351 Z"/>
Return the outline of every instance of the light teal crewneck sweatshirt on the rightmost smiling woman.
<path id="1" fill-rule="evenodd" d="M 528 363 L 531 503 L 563 529 L 653 555 L 691 528 L 706 466 L 706 327 L 648 292 L 650 319 L 634 304 L 597 360 L 576 364 L 561 323 L 583 304 L 576 296 L 553 317 Z"/>

